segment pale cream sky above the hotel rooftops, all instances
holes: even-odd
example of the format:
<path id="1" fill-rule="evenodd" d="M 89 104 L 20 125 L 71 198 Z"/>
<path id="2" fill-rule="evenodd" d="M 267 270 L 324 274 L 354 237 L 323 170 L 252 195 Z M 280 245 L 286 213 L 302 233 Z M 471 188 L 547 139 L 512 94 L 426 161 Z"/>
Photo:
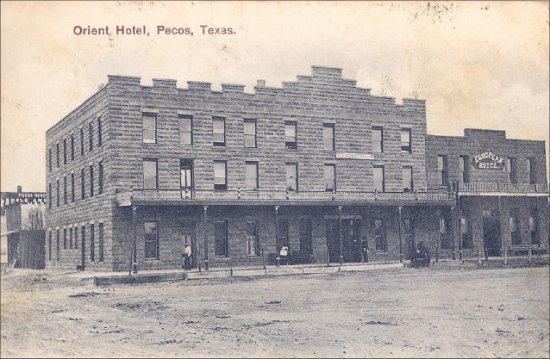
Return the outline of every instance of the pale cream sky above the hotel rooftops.
<path id="1" fill-rule="evenodd" d="M 340 67 L 426 99 L 428 133 L 549 141 L 548 2 L 1 2 L 1 191 L 45 190 L 45 132 L 107 75 L 280 87 Z M 203 34 L 201 25 L 233 34 Z M 76 35 L 75 27 L 110 35 Z M 146 26 L 149 36 L 116 35 Z M 157 26 L 190 35 L 157 34 Z"/>

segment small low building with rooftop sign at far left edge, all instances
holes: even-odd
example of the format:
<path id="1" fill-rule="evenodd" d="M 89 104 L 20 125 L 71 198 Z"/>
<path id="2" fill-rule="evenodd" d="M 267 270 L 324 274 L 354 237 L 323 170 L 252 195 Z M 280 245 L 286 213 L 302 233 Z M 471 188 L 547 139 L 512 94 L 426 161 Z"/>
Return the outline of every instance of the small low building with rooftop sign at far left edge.
<path id="1" fill-rule="evenodd" d="M 0 195 L 3 265 L 44 269 L 46 193 L 23 192 L 22 187 L 17 186 L 17 192 L 2 192 Z"/>

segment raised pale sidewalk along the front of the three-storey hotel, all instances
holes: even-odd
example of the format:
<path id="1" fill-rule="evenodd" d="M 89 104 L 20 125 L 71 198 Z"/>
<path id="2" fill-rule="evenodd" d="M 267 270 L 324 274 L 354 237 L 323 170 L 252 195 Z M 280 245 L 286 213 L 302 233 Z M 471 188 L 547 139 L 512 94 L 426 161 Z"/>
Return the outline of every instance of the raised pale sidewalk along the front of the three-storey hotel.
<path id="1" fill-rule="evenodd" d="M 328 274 L 336 272 L 363 272 L 369 270 L 384 270 L 403 268 L 403 263 L 398 261 L 369 262 L 369 263 L 345 263 L 339 265 L 332 263 L 326 264 L 303 264 L 303 265 L 281 265 L 263 267 L 216 267 L 208 271 L 202 269 L 192 269 L 183 271 L 182 269 L 150 270 L 139 271 L 137 274 L 128 272 L 78 272 L 71 276 L 80 277 L 82 281 L 92 280 L 94 285 L 110 284 L 132 284 L 132 283 L 151 283 L 167 282 L 180 280 L 204 280 L 204 279 L 222 279 L 222 278 L 251 278 L 251 277 L 273 277 L 283 275 L 311 275 Z"/>

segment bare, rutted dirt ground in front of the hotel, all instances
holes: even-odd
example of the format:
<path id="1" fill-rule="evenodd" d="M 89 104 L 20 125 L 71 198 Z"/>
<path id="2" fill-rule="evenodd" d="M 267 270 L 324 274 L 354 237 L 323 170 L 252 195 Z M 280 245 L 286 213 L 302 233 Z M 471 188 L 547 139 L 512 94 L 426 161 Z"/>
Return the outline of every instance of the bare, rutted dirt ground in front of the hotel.
<path id="1" fill-rule="evenodd" d="M 546 357 L 549 268 L 94 287 L 2 275 L 1 356 Z"/>

